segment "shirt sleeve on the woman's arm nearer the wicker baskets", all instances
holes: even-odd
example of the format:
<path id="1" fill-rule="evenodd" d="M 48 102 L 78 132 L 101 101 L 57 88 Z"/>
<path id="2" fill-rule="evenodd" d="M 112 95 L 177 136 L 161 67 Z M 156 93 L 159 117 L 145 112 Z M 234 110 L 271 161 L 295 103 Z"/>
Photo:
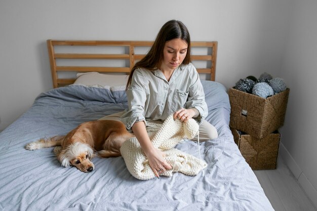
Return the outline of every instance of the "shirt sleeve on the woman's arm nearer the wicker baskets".
<path id="1" fill-rule="evenodd" d="M 208 115 L 208 107 L 205 101 L 205 93 L 202 82 L 197 71 L 193 72 L 192 83 L 189 87 L 188 100 L 185 108 L 195 108 L 199 111 L 199 116 L 194 118 L 198 123 L 202 123 Z"/>

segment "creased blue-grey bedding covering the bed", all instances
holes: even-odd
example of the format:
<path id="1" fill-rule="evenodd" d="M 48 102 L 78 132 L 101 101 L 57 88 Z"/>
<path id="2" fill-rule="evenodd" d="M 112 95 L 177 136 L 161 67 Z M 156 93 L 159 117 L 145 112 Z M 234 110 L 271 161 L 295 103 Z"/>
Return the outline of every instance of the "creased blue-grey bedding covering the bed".
<path id="1" fill-rule="evenodd" d="M 209 115 L 218 138 L 184 140 L 176 149 L 207 163 L 196 176 L 138 180 L 123 157 L 93 159 L 95 170 L 62 167 L 53 148 L 28 151 L 39 138 L 64 135 L 78 124 L 127 108 L 125 92 L 83 86 L 62 87 L 39 95 L 32 107 L 0 133 L 0 211 L 38 210 L 273 210 L 229 130 L 226 89 L 202 81 Z"/>

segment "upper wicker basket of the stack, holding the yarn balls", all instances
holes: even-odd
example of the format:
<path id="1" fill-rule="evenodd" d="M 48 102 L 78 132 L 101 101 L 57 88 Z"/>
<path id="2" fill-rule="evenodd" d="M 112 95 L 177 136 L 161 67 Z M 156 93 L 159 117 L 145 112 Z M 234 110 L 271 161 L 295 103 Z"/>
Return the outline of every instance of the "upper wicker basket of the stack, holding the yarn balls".
<path id="1" fill-rule="evenodd" d="M 268 98 L 245 93 L 231 88 L 230 127 L 261 139 L 284 124 L 290 90 Z"/>

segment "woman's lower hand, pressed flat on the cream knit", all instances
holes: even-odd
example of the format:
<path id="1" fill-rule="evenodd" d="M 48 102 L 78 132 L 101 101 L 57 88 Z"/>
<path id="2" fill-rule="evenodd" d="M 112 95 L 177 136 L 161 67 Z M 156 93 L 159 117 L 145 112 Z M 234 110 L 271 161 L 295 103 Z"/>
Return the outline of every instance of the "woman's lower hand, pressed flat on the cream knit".
<path id="1" fill-rule="evenodd" d="M 154 175 L 157 178 L 160 178 L 160 174 L 165 172 L 166 170 L 171 170 L 172 166 L 166 162 L 164 159 L 165 153 L 158 149 L 151 149 L 148 152 L 145 152 L 148 163 L 154 172 Z"/>

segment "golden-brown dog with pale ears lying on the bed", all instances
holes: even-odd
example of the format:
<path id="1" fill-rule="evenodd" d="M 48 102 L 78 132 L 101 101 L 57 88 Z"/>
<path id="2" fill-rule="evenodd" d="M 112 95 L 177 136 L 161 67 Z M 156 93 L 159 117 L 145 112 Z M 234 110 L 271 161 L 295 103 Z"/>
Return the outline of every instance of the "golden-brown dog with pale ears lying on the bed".
<path id="1" fill-rule="evenodd" d="M 76 166 L 82 172 L 94 170 L 91 159 L 98 151 L 101 157 L 121 156 L 120 147 L 130 134 L 121 121 L 96 120 L 80 124 L 66 136 L 41 139 L 25 146 L 27 150 L 55 147 L 54 152 L 62 166 Z"/>

